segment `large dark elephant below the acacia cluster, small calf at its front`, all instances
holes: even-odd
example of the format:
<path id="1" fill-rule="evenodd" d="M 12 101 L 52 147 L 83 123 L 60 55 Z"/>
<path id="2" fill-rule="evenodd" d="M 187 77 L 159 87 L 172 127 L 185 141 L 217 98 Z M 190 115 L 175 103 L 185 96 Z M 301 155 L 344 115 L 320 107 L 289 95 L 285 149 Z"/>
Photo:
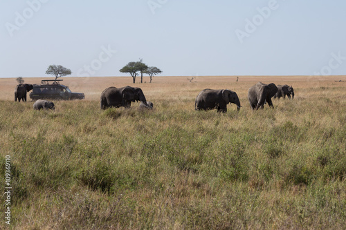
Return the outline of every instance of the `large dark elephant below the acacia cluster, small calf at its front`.
<path id="1" fill-rule="evenodd" d="M 125 107 L 129 108 L 131 102 L 143 102 L 147 105 L 147 99 L 143 94 L 143 91 L 137 87 L 125 86 L 122 88 L 109 87 L 103 90 L 101 93 L 101 109 L 107 109 L 109 107 Z"/>

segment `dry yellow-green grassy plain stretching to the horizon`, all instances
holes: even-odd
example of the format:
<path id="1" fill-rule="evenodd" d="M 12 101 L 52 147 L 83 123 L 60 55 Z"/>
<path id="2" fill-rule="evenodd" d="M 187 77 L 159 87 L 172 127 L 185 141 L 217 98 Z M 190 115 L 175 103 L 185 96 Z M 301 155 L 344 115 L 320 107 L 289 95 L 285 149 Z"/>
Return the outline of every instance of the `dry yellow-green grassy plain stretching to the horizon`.
<path id="1" fill-rule="evenodd" d="M 11 227 L 345 229 L 339 79 L 346 77 L 64 77 L 86 99 L 55 101 L 55 111 L 14 102 L 15 79 L 0 79 L 0 177 L 10 155 Z M 251 111 L 247 90 L 258 81 L 290 84 L 295 99 Z M 126 85 L 142 88 L 154 111 L 138 103 L 101 111 L 102 90 Z M 203 88 L 235 90 L 243 108 L 194 111 Z"/>

